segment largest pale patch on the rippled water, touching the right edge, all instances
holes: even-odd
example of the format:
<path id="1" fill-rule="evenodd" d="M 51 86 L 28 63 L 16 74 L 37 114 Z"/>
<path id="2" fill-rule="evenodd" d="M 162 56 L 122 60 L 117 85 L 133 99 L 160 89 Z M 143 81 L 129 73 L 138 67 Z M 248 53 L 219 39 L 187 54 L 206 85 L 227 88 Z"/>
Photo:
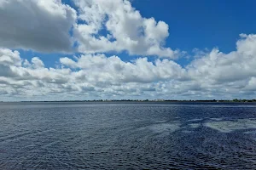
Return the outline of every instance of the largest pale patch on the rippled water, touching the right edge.
<path id="1" fill-rule="evenodd" d="M 256 128 L 256 119 L 238 119 L 236 121 L 207 122 L 206 127 L 218 130 L 222 133 L 230 133 L 236 130 Z"/>

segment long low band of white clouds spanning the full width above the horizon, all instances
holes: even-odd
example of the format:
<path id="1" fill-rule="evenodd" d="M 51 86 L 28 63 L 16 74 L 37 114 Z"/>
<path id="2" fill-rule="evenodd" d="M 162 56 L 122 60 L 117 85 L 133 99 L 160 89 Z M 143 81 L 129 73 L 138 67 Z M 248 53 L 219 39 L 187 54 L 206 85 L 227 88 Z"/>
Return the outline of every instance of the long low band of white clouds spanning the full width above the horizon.
<path id="1" fill-rule="evenodd" d="M 213 48 L 182 67 L 171 59 L 81 54 L 63 57 L 47 68 L 38 57 L 21 59 L 17 51 L 0 50 L 1 96 L 66 96 L 65 99 L 226 99 L 251 98 L 256 85 L 255 35 L 241 35 L 236 51 Z M 38 90 L 40 89 L 40 90 Z M 44 99 L 44 98 L 43 98 Z M 61 98 L 62 99 L 62 98 Z"/>

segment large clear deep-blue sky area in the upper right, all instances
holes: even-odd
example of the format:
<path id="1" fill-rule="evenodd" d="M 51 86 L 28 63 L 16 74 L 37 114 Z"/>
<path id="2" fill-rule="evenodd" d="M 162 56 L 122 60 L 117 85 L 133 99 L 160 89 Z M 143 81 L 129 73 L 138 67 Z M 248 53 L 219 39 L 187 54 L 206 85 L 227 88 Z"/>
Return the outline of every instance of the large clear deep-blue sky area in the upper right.
<path id="1" fill-rule="evenodd" d="M 218 47 L 224 52 L 236 49 L 241 33 L 256 30 L 256 2 L 248 0 L 143 0 L 132 2 L 145 17 L 154 16 L 169 25 L 166 45 L 192 51 L 193 48 Z"/>

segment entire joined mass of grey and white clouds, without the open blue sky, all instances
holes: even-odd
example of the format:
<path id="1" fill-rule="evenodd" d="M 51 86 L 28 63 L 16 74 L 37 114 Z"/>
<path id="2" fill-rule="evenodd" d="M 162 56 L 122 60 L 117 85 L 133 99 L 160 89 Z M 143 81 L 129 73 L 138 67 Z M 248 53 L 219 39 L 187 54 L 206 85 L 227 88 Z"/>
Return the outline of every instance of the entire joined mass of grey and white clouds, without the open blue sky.
<path id="1" fill-rule="evenodd" d="M 253 98 L 256 35 L 236 50 L 182 53 L 165 47 L 169 26 L 122 0 L 0 0 L 0 100 Z M 20 50 L 68 53 L 54 67 Z M 74 52 L 79 52 L 75 54 Z M 119 53 L 139 55 L 125 61 Z M 114 53 L 115 55 L 109 54 Z M 149 59 L 150 56 L 157 58 Z M 69 56 L 69 55 L 68 55 Z"/>

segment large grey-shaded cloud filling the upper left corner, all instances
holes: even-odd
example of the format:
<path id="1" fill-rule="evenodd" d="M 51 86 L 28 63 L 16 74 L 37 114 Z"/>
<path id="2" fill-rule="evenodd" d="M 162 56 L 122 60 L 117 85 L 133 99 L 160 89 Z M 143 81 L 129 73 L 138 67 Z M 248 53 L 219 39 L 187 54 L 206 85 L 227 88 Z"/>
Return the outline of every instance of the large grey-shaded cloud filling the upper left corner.
<path id="1" fill-rule="evenodd" d="M 61 0 L 0 0 L 0 47 L 71 52 L 76 18 Z"/>

